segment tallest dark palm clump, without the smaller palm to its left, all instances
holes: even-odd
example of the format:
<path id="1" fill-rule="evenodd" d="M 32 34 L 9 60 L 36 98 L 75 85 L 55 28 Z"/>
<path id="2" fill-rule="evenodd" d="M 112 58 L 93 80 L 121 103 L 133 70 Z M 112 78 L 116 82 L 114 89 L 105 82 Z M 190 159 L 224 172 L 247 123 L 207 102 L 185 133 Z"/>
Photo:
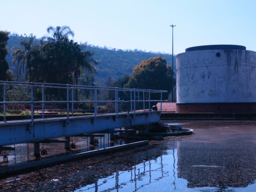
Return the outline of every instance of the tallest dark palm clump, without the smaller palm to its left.
<path id="1" fill-rule="evenodd" d="M 47 83 L 78 84 L 79 76 L 85 71 L 97 72 L 94 65 L 98 62 L 92 58 L 93 53 L 82 52 L 80 44 L 69 40 L 69 36 L 73 37 L 74 32 L 68 26 L 50 26 L 47 32 L 49 36 L 41 38 L 42 45 L 37 53 L 39 60 L 34 62 L 34 70 L 42 75 L 35 77 L 42 76 L 40 79 Z M 58 89 L 58 98 L 61 95 L 63 94 Z"/>

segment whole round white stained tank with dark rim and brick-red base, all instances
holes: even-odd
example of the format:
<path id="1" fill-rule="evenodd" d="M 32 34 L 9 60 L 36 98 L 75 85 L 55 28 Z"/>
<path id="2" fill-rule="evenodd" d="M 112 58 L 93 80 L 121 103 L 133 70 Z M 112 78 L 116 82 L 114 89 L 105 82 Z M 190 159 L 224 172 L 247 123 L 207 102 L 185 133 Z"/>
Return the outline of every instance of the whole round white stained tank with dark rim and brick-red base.
<path id="1" fill-rule="evenodd" d="M 256 113 L 256 52 L 240 45 L 190 47 L 176 55 L 176 113 Z"/>

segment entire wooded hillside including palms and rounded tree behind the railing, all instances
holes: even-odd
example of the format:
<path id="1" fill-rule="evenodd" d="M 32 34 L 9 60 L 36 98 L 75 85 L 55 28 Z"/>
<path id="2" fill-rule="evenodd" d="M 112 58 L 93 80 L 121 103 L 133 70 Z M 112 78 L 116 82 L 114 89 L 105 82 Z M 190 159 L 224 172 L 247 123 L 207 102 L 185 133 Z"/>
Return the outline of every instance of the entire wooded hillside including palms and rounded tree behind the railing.
<path id="1" fill-rule="evenodd" d="M 3 62 L 0 68 L 4 73 L 3 80 L 158 89 L 168 93 L 172 89 L 171 55 L 78 44 L 70 39 L 74 32 L 68 26 L 49 26 L 46 31 L 47 35 L 40 39 L 33 34 L 18 36 L 2 32 L 0 53 Z M 10 86 L 6 89 L 10 100 L 22 95 L 19 88 Z M 104 90 L 97 92 L 100 100 L 112 100 L 115 97 L 112 93 Z M 168 93 L 163 94 L 164 99 L 168 98 Z M 64 89 L 45 87 L 44 94 L 45 100 L 67 98 Z M 41 96 L 42 88 L 37 88 L 34 97 L 39 99 Z M 125 92 L 119 96 L 127 99 Z M 74 99 L 77 101 L 92 97 L 92 92 L 88 90 L 75 90 Z M 153 95 L 151 99 L 154 100 Z M 75 108 L 82 109 L 91 107 L 86 103 L 75 105 Z"/>

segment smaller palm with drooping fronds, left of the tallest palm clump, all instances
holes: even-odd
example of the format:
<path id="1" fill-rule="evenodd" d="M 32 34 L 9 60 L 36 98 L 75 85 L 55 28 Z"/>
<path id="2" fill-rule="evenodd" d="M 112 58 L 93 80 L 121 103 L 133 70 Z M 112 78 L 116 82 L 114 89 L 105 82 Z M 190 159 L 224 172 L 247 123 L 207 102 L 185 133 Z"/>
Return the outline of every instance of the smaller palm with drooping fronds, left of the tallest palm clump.
<path id="1" fill-rule="evenodd" d="M 28 68 L 28 75 L 29 75 L 29 81 L 31 82 L 31 58 L 32 58 L 32 52 L 33 52 L 33 44 L 35 43 L 35 36 L 29 37 L 28 41 L 26 39 L 21 38 L 20 39 L 20 47 L 12 47 L 12 65 L 17 62 L 17 66 L 20 65 L 19 73 L 21 73 L 21 68 L 23 69 L 24 73 L 24 67 Z M 18 79 L 17 79 L 18 81 Z"/>

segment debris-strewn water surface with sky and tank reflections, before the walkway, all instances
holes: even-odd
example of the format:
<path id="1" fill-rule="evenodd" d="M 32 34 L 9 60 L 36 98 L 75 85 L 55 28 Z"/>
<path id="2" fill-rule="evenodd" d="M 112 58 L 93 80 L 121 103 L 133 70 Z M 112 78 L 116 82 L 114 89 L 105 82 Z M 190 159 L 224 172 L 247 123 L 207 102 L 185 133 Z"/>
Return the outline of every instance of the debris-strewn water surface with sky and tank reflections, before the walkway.
<path id="1" fill-rule="evenodd" d="M 195 134 L 1 180 L 8 191 L 255 191 L 253 121 L 180 121 Z"/>

